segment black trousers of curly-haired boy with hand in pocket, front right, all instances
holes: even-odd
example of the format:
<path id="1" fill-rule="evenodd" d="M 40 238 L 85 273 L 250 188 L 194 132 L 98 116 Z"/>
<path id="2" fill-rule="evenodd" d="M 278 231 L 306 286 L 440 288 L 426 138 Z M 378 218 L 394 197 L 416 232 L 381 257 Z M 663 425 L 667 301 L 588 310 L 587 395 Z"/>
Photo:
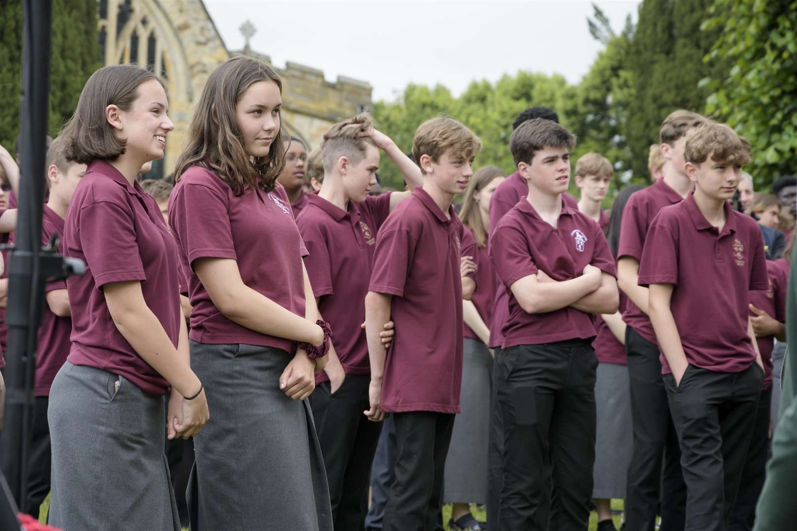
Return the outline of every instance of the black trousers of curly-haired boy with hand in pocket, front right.
<path id="1" fill-rule="evenodd" d="M 663 377 L 681 443 L 687 531 L 725 531 L 756 424 L 764 370 L 740 373 L 689 365 L 676 387 Z"/>

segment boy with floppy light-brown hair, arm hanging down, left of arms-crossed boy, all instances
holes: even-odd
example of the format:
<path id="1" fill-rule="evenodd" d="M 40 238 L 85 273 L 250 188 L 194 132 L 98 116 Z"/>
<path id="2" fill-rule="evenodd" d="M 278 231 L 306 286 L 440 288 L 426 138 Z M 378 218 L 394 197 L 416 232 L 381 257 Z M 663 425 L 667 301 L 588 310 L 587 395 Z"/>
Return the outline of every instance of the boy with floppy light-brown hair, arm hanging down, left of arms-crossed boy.
<path id="1" fill-rule="evenodd" d="M 383 529 L 438 529 L 443 470 L 460 412 L 463 227 L 451 202 L 473 175 L 481 140 L 450 118 L 418 127 L 412 152 L 423 186 L 387 217 L 365 298 L 370 420 L 393 413 L 395 482 Z M 395 194 L 394 194 L 395 195 Z M 475 272 L 471 273 L 475 275 Z M 386 353 L 379 333 L 398 334 Z"/>

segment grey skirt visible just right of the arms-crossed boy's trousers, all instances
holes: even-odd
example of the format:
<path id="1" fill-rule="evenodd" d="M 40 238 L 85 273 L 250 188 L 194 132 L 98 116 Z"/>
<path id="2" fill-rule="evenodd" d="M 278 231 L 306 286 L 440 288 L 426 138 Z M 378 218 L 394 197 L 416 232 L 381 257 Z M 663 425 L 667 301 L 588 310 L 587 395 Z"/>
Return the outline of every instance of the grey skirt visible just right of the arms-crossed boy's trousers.
<path id="1" fill-rule="evenodd" d="M 626 497 L 626 474 L 634 448 L 628 367 L 599 363 L 595 381 L 597 426 L 592 498 Z"/>

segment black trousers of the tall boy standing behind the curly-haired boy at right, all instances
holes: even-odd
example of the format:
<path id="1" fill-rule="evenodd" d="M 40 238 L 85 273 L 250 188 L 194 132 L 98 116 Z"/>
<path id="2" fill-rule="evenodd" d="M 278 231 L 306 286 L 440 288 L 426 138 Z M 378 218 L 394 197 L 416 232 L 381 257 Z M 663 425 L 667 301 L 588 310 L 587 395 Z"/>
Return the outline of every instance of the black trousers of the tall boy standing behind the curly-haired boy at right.
<path id="1" fill-rule="evenodd" d="M 661 531 L 683 531 L 686 485 L 658 346 L 628 326 L 626 353 L 634 430 L 626 487 L 626 529 L 654 531 L 659 513 Z"/>

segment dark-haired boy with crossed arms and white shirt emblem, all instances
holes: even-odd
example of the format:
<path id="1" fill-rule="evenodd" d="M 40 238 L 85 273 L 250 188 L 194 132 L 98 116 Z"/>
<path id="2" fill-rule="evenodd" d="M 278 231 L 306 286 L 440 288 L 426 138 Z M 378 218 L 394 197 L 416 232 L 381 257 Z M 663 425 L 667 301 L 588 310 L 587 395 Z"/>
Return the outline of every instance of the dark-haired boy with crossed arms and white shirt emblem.
<path id="1" fill-rule="evenodd" d="M 498 223 L 490 257 L 509 295 L 496 361 L 504 419 L 497 529 L 587 529 L 595 461 L 595 337 L 591 314 L 618 308 L 614 258 L 595 221 L 563 201 L 575 137 L 524 122 L 510 148 L 528 195 Z"/>

